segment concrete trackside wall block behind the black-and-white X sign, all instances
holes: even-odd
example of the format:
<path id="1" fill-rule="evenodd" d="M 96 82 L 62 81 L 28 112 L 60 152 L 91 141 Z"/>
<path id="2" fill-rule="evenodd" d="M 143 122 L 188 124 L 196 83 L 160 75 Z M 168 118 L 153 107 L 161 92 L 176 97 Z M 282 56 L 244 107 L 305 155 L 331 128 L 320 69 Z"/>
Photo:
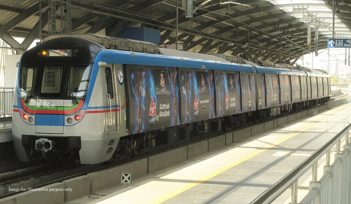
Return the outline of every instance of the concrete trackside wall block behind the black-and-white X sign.
<path id="1" fill-rule="evenodd" d="M 183 147 L 183 148 L 186 149 L 186 147 Z M 171 158 L 174 159 L 175 157 L 176 156 L 166 157 L 163 159 L 171 160 Z M 185 153 L 185 158 L 186 158 L 186 153 Z M 148 159 L 143 158 L 143 159 L 135 160 L 135 161 L 121 164 L 115 167 L 111 167 L 108 169 L 87 174 L 90 177 L 90 192 L 98 191 L 98 190 L 105 189 L 113 185 L 119 184 L 121 182 L 121 172 L 132 173 L 132 178 L 137 178 L 139 176 L 146 175 L 147 166 L 148 166 Z"/>

